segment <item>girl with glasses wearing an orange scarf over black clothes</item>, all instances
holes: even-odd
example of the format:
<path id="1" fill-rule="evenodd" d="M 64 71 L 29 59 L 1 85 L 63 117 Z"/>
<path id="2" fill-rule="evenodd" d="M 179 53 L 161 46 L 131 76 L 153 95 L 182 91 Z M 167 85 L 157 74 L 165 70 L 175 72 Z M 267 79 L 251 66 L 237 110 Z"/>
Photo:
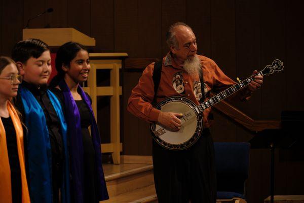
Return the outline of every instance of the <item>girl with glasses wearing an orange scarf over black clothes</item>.
<path id="1" fill-rule="evenodd" d="M 0 202 L 30 202 L 24 163 L 23 128 L 11 103 L 21 76 L 15 62 L 0 57 Z"/>

